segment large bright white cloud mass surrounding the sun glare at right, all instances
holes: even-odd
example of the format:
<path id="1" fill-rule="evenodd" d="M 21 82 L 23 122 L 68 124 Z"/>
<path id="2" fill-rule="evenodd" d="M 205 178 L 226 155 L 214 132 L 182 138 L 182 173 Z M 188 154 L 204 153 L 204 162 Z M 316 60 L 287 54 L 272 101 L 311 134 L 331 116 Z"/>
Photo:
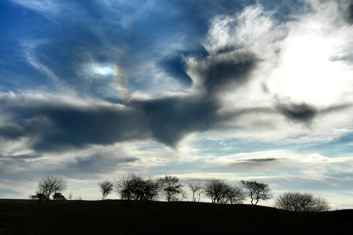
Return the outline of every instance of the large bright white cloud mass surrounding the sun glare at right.
<path id="1" fill-rule="evenodd" d="M 209 133 L 272 143 L 322 143 L 351 133 L 353 64 L 344 60 L 342 51 L 353 53 L 353 26 L 345 22 L 338 2 L 309 3 L 304 14 L 284 23 L 259 4 L 212 19 L 203 43 L 209 55 L 184 58 L 194 91 L 204 92 L 199 70 L 206 70 L 213 60 L 228 62 L 225 57 L 232 60 L 247 50 L 260 61 L 247 83 L 229 83 L 228 90 L 218 94 L 218 112 L 234 117 L 225 123 L 231 131 Z M 304 125 L 289 121 L 278 112 L 278 102 L 312 105 L 318 114 Z"/>

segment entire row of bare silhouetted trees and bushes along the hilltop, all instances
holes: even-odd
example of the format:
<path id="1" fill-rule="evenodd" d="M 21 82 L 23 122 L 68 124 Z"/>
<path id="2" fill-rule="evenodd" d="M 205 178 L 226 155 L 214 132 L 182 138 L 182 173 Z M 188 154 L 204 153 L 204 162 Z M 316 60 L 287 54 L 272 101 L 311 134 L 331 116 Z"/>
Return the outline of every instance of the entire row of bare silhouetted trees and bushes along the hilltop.
<path id="1" fill-rule="evenodd" d="M 115 191 L 121 199 L 130 200 L 159 200 L 182 201 L 187 198 L 184 186 L 179 183 L 179 179 L 173 175 L 165 175 L 157 178 L 143 178 L 134 172 L 127 172 L 113 181 L 105 180 L 98 184 L 102 193 L 102 200 Z M 199 202 L 201 194 L 210 198 L 212 203 L 217 204 L 240 204 L 249 197 L 251 204 L 257 205 L 260 200 L 273 198 L 268 184 L 257 181 L 240 181 L 238 185 L 230 185 L 224 180 L 212 178 L 205 183 L 190 182 L 188 186 L 192 192 L 192 201 Z M 67 189 L 67 181 L 61 177 L 46 177 L 38 182 L 38 189 L 35 195 L 30 195 L 32 199 L 39 199 L 39 202 L 66 200 L 62 192 Z M 69 195 L 71 200 L 72 192 Z M 81 200 L 82 197 L 78 200 Z M 330 203 L 323 197 L 316 197 L 311 193 L 285 192 L 274 199 L 274 206 L 279 209 L 291 211 L 327 211 Z"/>

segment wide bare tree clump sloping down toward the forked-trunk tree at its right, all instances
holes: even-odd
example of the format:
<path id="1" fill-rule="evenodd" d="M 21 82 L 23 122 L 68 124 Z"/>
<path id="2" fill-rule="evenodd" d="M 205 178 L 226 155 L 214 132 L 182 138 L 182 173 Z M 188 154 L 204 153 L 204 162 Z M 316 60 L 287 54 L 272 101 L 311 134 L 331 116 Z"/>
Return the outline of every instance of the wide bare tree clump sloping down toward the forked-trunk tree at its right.
<path id="1" fill-rule="evenodd" d="M 212 203 L 218 204 L 237 204 L 245 199 L 245 193 L 242 188 L 232 186 L 224 180 L 212 178 L 207 181 L 203 187 L 206 197 L 211 198 Z"/>

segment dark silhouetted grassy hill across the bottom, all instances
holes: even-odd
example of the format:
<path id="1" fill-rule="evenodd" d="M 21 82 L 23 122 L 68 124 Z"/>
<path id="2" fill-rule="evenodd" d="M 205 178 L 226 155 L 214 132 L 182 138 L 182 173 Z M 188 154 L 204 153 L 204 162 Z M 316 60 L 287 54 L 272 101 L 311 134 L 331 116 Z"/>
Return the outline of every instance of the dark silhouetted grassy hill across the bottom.
<path id="1" fill-rule="evenodd" d="M 297 213 L 253 205 L 0 199 L 0 234 L 351 234 L 353 210 Z M 349 233 L 350 232 L 350 233 Z"/>

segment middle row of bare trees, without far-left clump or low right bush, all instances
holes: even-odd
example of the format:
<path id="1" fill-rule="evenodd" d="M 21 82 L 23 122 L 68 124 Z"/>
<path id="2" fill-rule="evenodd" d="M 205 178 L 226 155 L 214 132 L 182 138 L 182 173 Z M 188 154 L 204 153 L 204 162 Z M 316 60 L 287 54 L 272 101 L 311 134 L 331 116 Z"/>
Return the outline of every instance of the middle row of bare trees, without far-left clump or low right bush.
<path id="1" fill-rule="evenodd" d="M 184 186 L 179 179 L 172 175 L 162 178 L 144 179 L 141 175 L 128 172 L 113 181 L 99 182 L 98 188 L 102 193 L 102 200 L 111 192 L 115 191 L 121 199 L 129 200 L 158 200 L 182 201 L 187 198 Z M 210 198 L 212 203 L 238 204 L 243 203 L 247 196 L 251 198 L 251 204 L 255 205 L 259 200 L 272 198 L 271 189 L 268 184 L 256 181 L 241 181 L 239 185 L 230 185 L 224 180 L 212 178 L 204 184 L 201 182 L 188 183 L 192 191 L 192 201 L 200 201 L 201 194 Z"/>

